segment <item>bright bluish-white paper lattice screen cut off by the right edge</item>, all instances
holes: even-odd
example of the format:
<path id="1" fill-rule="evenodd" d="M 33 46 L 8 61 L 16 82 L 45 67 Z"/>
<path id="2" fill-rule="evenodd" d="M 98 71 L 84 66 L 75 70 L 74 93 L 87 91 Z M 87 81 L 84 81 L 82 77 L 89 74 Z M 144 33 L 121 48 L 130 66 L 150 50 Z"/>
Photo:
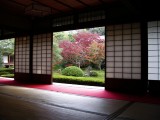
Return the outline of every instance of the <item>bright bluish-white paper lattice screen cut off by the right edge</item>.
<path id="1" fill-rule="evenodd" d="M 160 80 L 160 21 L 148 22 L 148 79 Z"/>

